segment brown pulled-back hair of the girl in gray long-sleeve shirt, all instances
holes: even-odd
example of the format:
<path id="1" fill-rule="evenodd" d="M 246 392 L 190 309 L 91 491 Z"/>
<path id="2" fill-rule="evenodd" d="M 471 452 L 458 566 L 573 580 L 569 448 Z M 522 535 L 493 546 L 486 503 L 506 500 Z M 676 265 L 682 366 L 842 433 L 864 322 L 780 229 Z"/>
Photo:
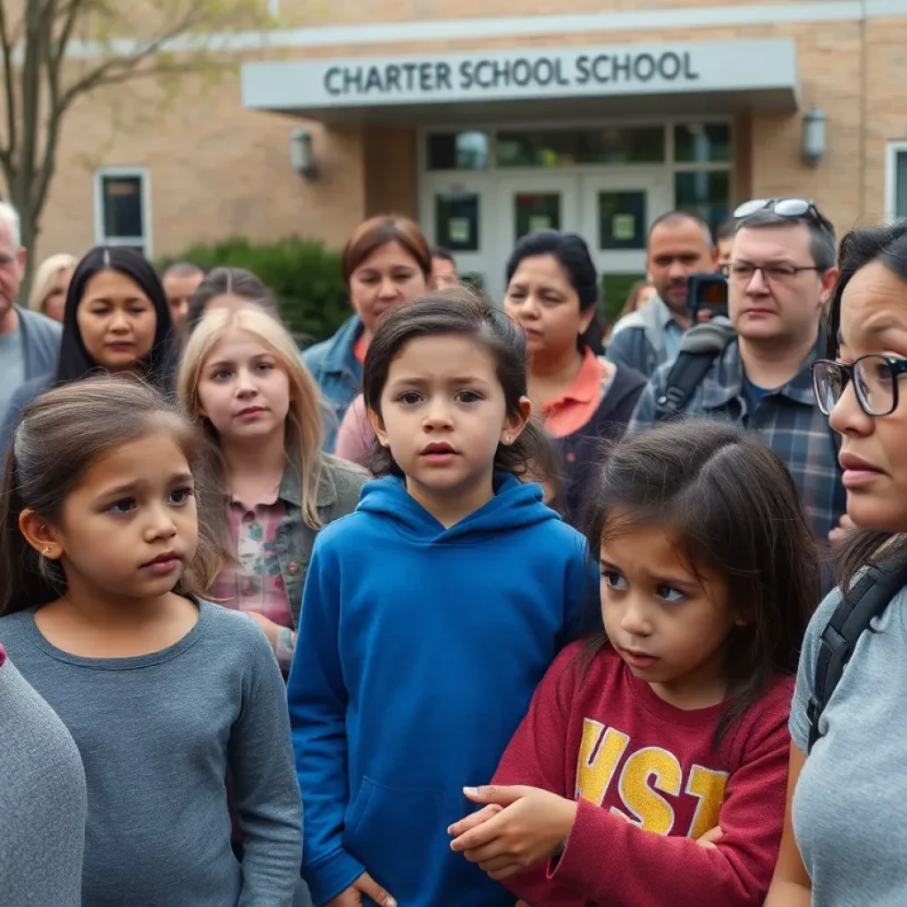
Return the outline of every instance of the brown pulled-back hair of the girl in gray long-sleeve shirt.
<path id="1" fill-rule="evenodd" d="M 60 519 L 63 502 L 98 456 L 147 434 L 167 432 L 197 480 L 199 544 L 174 588 L 201 596 L 220 570 L 220 522 L 198 484 L 203 443 L 149 385 L 124 377 L 92 377 L 48 391 L 25 407 L 6 453 L 0 499 L 0 613 L 39 607 L 60 598 L 66 575 L 41 557 L 19 531 L 19 514 L 30 510 Z M 212 516 L 215 518 L 212 519 Z"/>

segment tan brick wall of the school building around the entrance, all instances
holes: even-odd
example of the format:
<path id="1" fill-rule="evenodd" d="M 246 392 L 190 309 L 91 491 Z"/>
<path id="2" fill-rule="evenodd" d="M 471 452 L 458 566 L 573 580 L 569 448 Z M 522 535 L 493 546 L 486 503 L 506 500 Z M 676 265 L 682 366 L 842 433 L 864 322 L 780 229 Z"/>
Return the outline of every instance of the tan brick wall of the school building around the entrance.
<path id="1" fill-rule="evenodd" d="M 818 0 L 816 0 L 818 2 Z M 292 3 L 288 4 L 291 15 Z M 688 6 L 681 0 L 571 0 L 571 12 Z M 696 5 L 711 5 L 697 3 Z M 717 2 L 714 5 L 718 5 Z M 724 4 L 727 5 L 727 4 Z M 562 12 L 553 0 L 551 9 Z M 343 23 L 451 15 L 514 15 L 512 0 L 464 0 L 452 10 L 435 0 L 324 4 L 317 17 Z M 380 16 L 379 16 L 380 14 Z M 308 22 L 307 24 L 319 24 Z M 863 28 L 870 52 L 863 56 Z M 887 141 L 907 139 L 907 18 L 745 28 L 651 28 L 633 33 L 521 37 L 520 47 L 639 42 L 718 41 L 789 35 L 798 46 L 803 107 L 828 116 L 828 154 L 817 168 L 801 159 L 799 112 L 745 112 L 736 118 L 736 200 L 761 195 L 814 197 L 836 226 L 880 219 L 884 208 Z M 285 50 L 285 57 L 431 54 L 505 48 L 513 39 L 437 40 L 417 45 L 354 45 Z M 863 96 L 865 86 L 865 96 Z M 666 111 L 666 113 L 668 113 Z M 672 115 L 683 110 L 672 109 Z M 289 162 L 289 135 L 305 125 L 320 171 L 302 180 Z M 79 102 L 63 133 L 54 188 L 38 254 L 81 253 L 93 243 L 92 173 L 101 165 L 141 165 L 151 171 L 155 254 L 178 252 L 196 240 L 235 233 L 274 239 L 291 232 L 339 246 L 356 221 L 382 210 L 417 211 L 415 130 L 400 127 L 323 128 L 277 114 L 243 110 L 237 73 L 217 83 L 190 78 L 166 99 L 153 84 L 99 92 Z"/>

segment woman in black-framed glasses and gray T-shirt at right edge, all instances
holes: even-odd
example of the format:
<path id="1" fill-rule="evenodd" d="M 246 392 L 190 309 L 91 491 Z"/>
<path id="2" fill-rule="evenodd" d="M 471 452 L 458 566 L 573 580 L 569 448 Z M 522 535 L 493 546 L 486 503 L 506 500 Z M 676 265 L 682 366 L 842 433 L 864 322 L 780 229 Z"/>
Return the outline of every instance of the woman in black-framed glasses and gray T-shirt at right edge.
<path id="1" fill-rule="evenodd" d="M 907 586 L 882 598 L 830 697 L 817 664 L 827 677 L 828 653 L 841 640 L 827 628 L 845 591 L 849 604 L 859 600 L 854 580 L 884 561 L 893 588 L 907 583 L 907 222 L 844 238 L 831 322 L 837 358 L 814 364 L 814 390 L 841 436 L 847 512 L 857 528 L 844 541 L 838 589 L 806 632 L 790 718 L 788 814 L 766 907 L 901 907 Z"/>

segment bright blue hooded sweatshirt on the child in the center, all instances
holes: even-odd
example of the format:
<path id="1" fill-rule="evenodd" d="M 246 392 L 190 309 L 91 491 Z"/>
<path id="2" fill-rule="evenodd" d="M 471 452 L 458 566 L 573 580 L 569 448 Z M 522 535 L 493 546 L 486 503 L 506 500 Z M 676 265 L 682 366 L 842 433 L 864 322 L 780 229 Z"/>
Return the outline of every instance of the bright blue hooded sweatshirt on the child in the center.
<path id="1" fill-rule="evenodd" d="M 463 787 L 491 780 L 597 578 L 538 485 L 494 485 L 445 529 L 379 479 L 318 534 L 287 690 L 316 904 L 367 871 L 401 907 L 513 905 L 447 827 L 476 809 Z"/>

